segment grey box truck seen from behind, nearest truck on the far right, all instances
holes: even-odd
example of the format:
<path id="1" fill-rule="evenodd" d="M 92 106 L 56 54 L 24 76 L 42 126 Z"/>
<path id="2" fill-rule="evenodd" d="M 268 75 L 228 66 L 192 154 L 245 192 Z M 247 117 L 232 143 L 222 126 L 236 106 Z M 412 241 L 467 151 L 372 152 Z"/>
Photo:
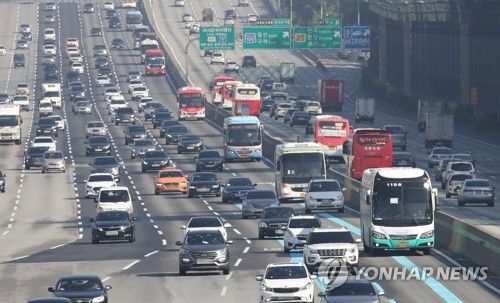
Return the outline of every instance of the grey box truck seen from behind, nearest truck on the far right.
<path id="1" fill-rule="evenodd" d="M 454 115 L 428 113 L 425 117 L 425 147 L 453 146 Z"/>

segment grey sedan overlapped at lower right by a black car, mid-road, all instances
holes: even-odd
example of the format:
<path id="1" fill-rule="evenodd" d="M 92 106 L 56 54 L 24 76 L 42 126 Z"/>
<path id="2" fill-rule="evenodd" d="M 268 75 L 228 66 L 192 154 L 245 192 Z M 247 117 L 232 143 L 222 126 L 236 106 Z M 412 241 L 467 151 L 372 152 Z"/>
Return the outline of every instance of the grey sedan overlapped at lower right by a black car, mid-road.
<path id="1" fill-rule="evenodd" d="M 278 206 L 279 200 L 274 190 L 252 189 L 248 190 L 242 199 L 241 217 L 260 217 L 264 208 Z"/>

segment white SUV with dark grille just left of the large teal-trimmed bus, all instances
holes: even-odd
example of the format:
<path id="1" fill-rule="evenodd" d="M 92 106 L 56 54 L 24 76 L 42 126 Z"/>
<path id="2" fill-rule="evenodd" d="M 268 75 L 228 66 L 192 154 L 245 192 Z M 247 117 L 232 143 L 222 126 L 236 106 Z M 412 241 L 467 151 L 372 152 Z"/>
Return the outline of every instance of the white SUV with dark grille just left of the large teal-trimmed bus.
<path id="1" fill-rule="evenodd" d="M 310 273 L 318 269 L 321 262 L 335 259 L 348 268 L 358 266 L 358 244 L 361 239 L 353 239 L 349 230 L 341 228 L 315 228 L 309 233 L 304 245 L 304 263 Z"/>

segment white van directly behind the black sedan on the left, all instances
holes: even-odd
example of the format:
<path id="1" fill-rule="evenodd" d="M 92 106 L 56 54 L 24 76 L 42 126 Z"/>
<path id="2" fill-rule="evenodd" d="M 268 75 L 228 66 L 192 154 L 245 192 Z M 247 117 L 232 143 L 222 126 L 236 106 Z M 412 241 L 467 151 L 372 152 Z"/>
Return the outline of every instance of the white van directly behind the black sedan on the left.
<path id="1" fill-rule="evenodd" d="M 108 210 L 124 210 L 129 214 L 134 213 L 132 196 L 126 186 L 101 188 L 99 196 L 95 199 L 97 212 Z"/>

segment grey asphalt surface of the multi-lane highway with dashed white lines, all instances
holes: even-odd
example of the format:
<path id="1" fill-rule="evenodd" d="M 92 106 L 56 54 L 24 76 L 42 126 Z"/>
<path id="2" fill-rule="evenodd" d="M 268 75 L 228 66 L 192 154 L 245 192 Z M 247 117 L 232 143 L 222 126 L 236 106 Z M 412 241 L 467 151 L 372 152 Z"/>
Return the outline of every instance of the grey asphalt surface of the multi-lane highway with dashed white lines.
<path id="1" fill-rule="evenodd" d="M 168 36 L 172 50 L 183 61 L 184 45 L 187 41 L 186 31 L 182 28 L 180 15 L 184 11 L 194 11 L 200 14 L 201 1 L 186 2 L 185 8 L 171 8 L 171 3 L 156 1 L 158 6 L 156 18 L 161 20 L 162 35 Z M 211 3 L 220 18 L 228 3 Z M 94 14 L 81 14 L 82 8 L 77 3 L 61 3 L 58 5 L 56 23 L 54 25 L 40 22 L 45 13 L 44 5 L 36 4 L 6 4 L 1 3 L 0 16 L 2 20 L 11 20 L 3 27 L 1 36 L 5 45 L 14 45 L 19 24 L 29 23 L 32 26 L 33 42 L 27 55 L 25 69 L 12 69 L 9 60 L 2 61 L 1 75 L 6 80 L 9 93 L 13 93 L 18 82 L 28 81 L 32 88 L 43 83 L 42 65 L 37 60 L 41 56 L 42 39 L 40 33 L 46 27 L 55 27 L 58 36 L 58 57 L 60 59 L 60 75 L 68 71 L 68 60 L 64 56 L 64 43 L 69 37 L 80 40 L 85 55 L 86 73 L 82 81 L 89 88 L 88 98 L 94 104 L 94 111 L 89 116 L 74 116 L 71 113 L 71 103 L 66 93 L 65 106 L 60 114 L 68 122 L 68 129 L 60 133 L 57 146 L 67 156 L 66 173 L 50 173 L 42 175 L 39 170 L 23 169 L 22 155 L 28 146 L 28 138 L 33 122 L 38 119 L 37 110 L 23 113 L 23 140 L 26 144 L 5 145 L 0 147 L 2 159 L 1 169 L 8 175 L 7 191 L 2 194 L 0 203 L 0 292 L 7 302 L 25 302 L 29 298 L 48 296 L 47 287 L 53 286 L 57 278 L 67 274 L 98 274 L 106 284 L 113 286 L 110 291 L 110 301 L 135 302 L 148 298 L 151 302 L 164 301 L 204 301 L 204 302 L 255 302 L 258 299 L 258 282 L 255 275 L 262 273 L 265 266 L 277 261 L 301 261 L 300 252 L 286 254 L 279 240 L 258 240 L 256 220 L 241 219 L 240 205 L 220 203 L 220 198 L 192 198 L 185 195 L 154 195 L 153 173 L 140 171 L 140 160 L 130 159 L 130 147 L 124 146 L 123 130 L 125 126 L 115 126 L 110 123 L 107 115 L 102 90 L 95 87 L 96 71 L 92 48 L 96 44 L 106 44 L 108 47 L 115 37 L 127 39 L 130 43 L 130 32 L 123 30 L 108 30 L 104 19 L 105 12 L 101 9 Z M 254 3 L 253 7 L 262 10 L 266 6 Z M 238 8 L 240 15 L 246 14 L 250 8 Z M 175 11 L 175 14 L 171 13 Z M 16 12 L 14 15 L 12 12 Z M 164 13 L 162 13 L 164 12 Z M 122 20 L 124 11 L 120 11 Z M 4 16 L 5 14 L 5 16 Z M 18 16 L 18 17 L 13 17 Z M 43 20 L 43 19 L 42 19 Z M 214 22 L 215 23 L 215 22 Z M 105 30 L 104 37 L 89 37 L 92 27 L 100 26 Z M 170 30 L 167 30 L 170 29 Z M 5 41 L 8 40 L 8 41 Z M 194 46 L 193 46 L 194 48 Z M 11 58 L 11 51 L 9 56 Z M 134 50 L 110 50 L 110 62 L 114 77 L 120 83 L 121 90 L 127 91 L 126 74 L 130 70 L 143 70 L 138 65 L 138 52 Z M 190 49 L 191 81 L 204 89 L 214 74 L 219 74 L 222 67 L 211 67 L 207 59 L 200 58 L 199 52 Z M 321 75 L 311 68 L 306 61 L 293 52 L 279 52 L 273 57 L 273 52 L 255 52 L 259 68 L 242 72 L 247 81 L 255 81 L 263 72 L 272 72 L 267 66 L 276 66 L 277 60 L 290 60 L 301 70 L 302 80 L 293 87 L 292 92 L 302 92 L 310 89 L 313 79 Z M 228 52 L 228 57 L 238 59 L 243 51 L 234 54 Z M 5 59 L 3 58 L 3 59 Z M 182 58 L 182 59 L 181 59 Z M 204 62 L 204 64 L 203 64 Z M 262 67 L 265 66 L 265 67 Z M 3 73 L 11 74 L 3 77 Z M 356 71 L 352 71 L 356 75 Z M 27 78 L 28 77 L 28 78 Z M 32 77 L 32 78 L 31 78 Z M 148 87 L 155 99 L 161 101 L 167 108 L 175 112 L 175 89 L 169 79 L 164 77 L 148 77 Z M 0 83 L 3 85 L 3 82 Z M 354 85 L 352 86 L 354 89 Z M 127 100 L 130 95 L 124 94 Z M 39 91 L 33 95 L 39 100 Z M 129 101 L 132 107 L 134 102 Z M 346 110 L 347 111 L 347 110 Z M 141 114 L 137 114 L 144 121 Z M 92 200 L 84 199 L 85 180 L 90 172 L 88 163 L 91 157 L 85 156 L 85 136 L 83 127 L 91 120 L 103 120 L 109 128 L 109 136 L 113 141 L 113 155 L 123 162 L 122 185 L 128 186 L 136 196 L 134 205 L 137 222 L 137 241 L 135 243 L 110 243 L 93 245 L 90 242 L 90 223 L 95 216 L 95 206 Z M 377 119 L 378 120 L 378 119 Z M 400 120 L 398 120 L 400 121 Z M 377 121 L 378 122 L 378 121 Z M 289 138 L 291 133 L 279 122 L 264 119 L 266 131 L 275 132 L 276 136 Z M 205 138 L 204 144 L 209 148 L 221 149 L 222 138 L 220 129 L 208 122 L 183 122 L 191 133 Z M 175 153 L 174 146 L 165 146 L 164 139 L 159 138 L 159 131 L 153 130 L 149 122 L 145 123 L 150 134 L 158 145 L 165 149 L 176 166 L 185 173 L 194 172 L 194 154 Z M 409 124 L 408 124 L 409 125 Z M 409 127 L 408 127 L 409 128 Z M 295 130 L 294 130 L 295 131 Z M 422 146 L 423 140 L 415 146 Z M 463 146 L 467 146 L 466 142 Z M 470 145 L 470 144 L 469 144 Z M 465 150 L 465 148 L 464 148 Z M 484 151 L 487 152 L 487 151 Z M 478 162 L 481 162 L 478 158 Z M 486 169 L 486 167 L 485 167 Z M 274 182 L 272 165 L 268 162 L 231 163 L 225 165 L 225 171 L 218 173 L 222 180 L 231 176 L 246 176 L 260 183 L 259 188 L 272 188 Z M 446 202 L 446 201 L 445 201 Z M 297 205 L 297 207 L 300 207 Z M 442 206 L 444 208 L 444 206 Z M 495 206 L 498 207 L 498 206 Z M 476 209 L 476 208 L 475 208 Z M 491 208 L 489 209 L 491 212 Z M 178 247 L 176 240 L 181 240 L 180 226 L 196 215 L 215 214 L 230 223 L 229 239 L 231 245 L 231 273 L 228 276 L 212 273 L 194 273 L 186 277 L 178 276 Z M 322 215 L 324 225 L 347 225 L 355 238 L 359 237 L 359 216 L 353 211 L 344 214 Z M 361 254 L 362 266 L 424 266 L 446 267 L 450 261 L 436 253 L 430 256 L 404 255 L 370 257 Z M 377 281 L 387 296 L 387 301 L 396 302 L 497 302 L 498 292 L 484 287 L 479 282 L 471 281 Z M 317 287 L 318 291 L 319 287 Z M 195 291 L 193 291 L 195 290 Z M 417 299 L 418 298 L 418 299 Z"/>

